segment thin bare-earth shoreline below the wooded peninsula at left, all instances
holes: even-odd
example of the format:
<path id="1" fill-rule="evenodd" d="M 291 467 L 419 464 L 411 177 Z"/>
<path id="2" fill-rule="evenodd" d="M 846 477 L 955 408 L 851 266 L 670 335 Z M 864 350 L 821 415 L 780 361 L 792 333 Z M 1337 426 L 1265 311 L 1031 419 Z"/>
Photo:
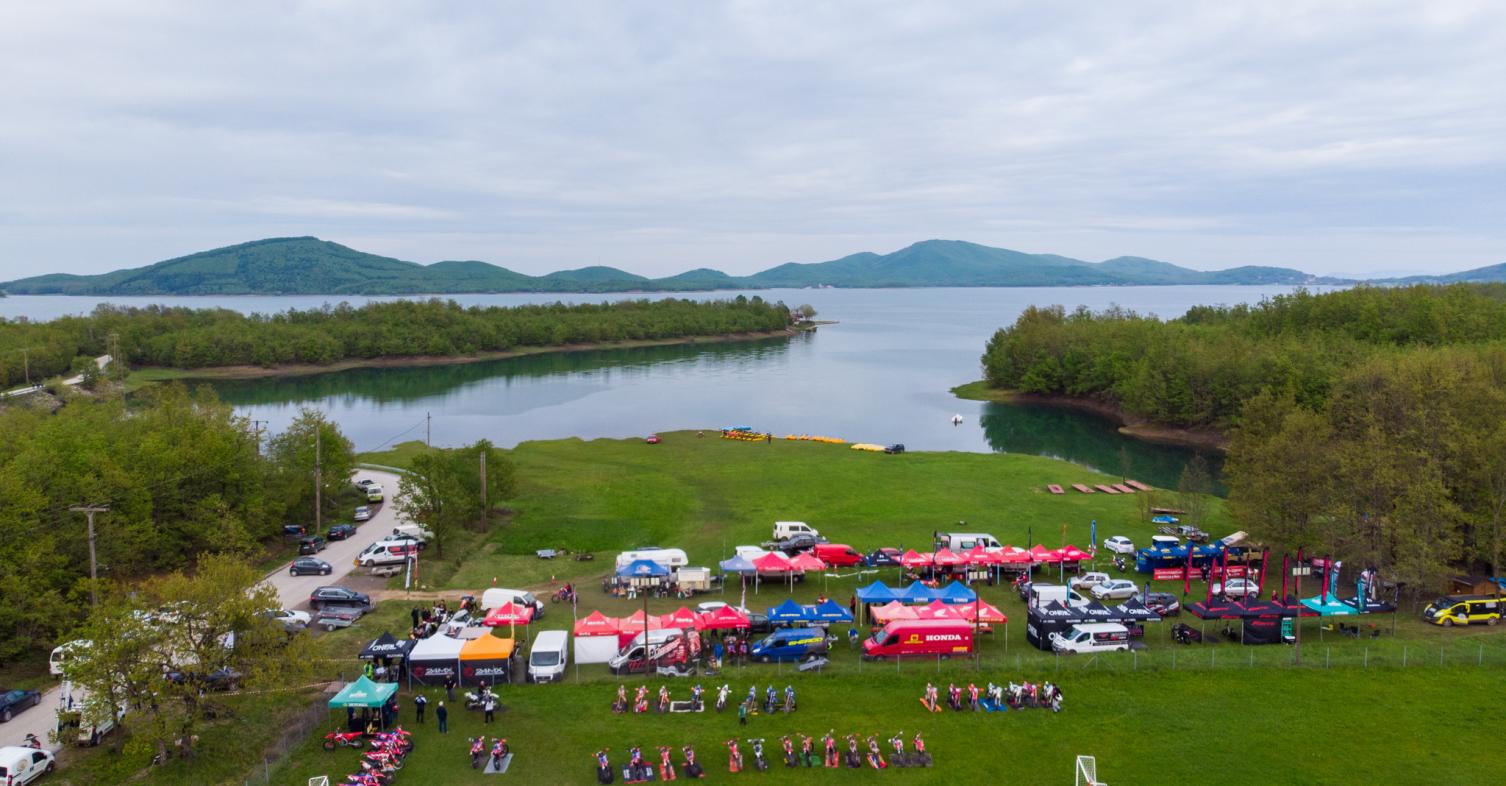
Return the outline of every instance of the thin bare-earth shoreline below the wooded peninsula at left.
<path id="1" fill-rule="evenodd" d="M 550 352 L 590 352 L 596 349 L 637 349 L 648 346 L 682 346 L 696 343 L 751 342 L 751 340 L 792 337 L 806 333 L 807 330 L 809 328 L 785 328 L 785 330 L 770 330 L 761 333 L 721 333 L 715 336 L 684 336 L 679 339 L 560 343 L 550 346 L 524 346 L 518 349 L 477 352 L 473 355 L 383 355 L 369 358 L 346 358 L 327 364 L 285 363 L 280 366 L 209 366 L 203 369 L 143 366 L 134 369 L 131 372 L 131 376 L 142 382 L 166 382 L 172 379 L 270 379 L 279 376 L 313 376 L 316 373 L 333 373 L 351 369 L 461 366 L 467 363 L 485 363 L 488 360 L 508 360 L 515 357 L 542 355 Z"/>

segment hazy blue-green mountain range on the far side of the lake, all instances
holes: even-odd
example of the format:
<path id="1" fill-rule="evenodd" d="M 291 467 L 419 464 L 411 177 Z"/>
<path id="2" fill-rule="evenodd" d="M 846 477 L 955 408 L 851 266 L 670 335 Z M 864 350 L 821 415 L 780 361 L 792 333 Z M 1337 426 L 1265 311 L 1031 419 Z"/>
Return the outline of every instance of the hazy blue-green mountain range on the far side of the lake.
<path id="1" fill-rule="evenodd" d="M 1500 265 L 1498 268 L 1506 268 Z M 1492 268 L 1482 268 L 1492 270 Z M 1498 271 L 1497 276 L 1503 273 Z M 1459 274 L 1464 276 L 1464 274 Z M 1474 280 L 1474 279 L 1468 279 Z M 1492 279 L 1500 280 L 1500 279 Z M 697 268 L 646 279 L 610 267 L 527 276 L 488 262 L 420 265 L 318 238 L 270 238 L 101 276 L 48 274 L 0 283 L 12 295 L 414 295 L 461 292 L 685 292 L 762 288 L 1134 286 L 1333 283 L 1289 268 L 1196 271 L 1120 256 L 1084 262 L 976 242 L 929 239 L 893 253 L 788 262 L 753 276 Z"/>

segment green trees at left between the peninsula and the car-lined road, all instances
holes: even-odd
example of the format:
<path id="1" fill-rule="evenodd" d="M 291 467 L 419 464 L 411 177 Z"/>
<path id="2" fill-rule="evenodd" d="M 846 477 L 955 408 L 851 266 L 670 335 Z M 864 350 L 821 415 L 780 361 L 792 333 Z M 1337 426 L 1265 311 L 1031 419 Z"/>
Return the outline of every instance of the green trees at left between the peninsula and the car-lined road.
<path id="1" fill-rule="evenodd" d="M 0 408 L 0 663 L 84 617 L 86 516 L 71 507 L 108 509 L 95 516 L 101 583 L 191 569 L 202 554 L 255 559 L 282 524 L 313 519 L 316 429 L 328 507 L 354 452 L 318 413 L 259 446 L 206 387 L 71 396 L 54 413 Z"/>

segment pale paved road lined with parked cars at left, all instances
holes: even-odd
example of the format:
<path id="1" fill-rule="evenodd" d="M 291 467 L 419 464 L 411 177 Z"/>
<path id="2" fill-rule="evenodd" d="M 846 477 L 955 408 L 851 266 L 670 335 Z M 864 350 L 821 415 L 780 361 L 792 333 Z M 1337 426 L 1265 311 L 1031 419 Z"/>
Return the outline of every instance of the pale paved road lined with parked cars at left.
<path id="1" fill-rule="evenodd" d="M 331 575 L 292 577 L 288 575 L 286 565 L 267 575 L 267 583 L 277 590 L 277 596 L 282 599 L 285 608 L 307 608 L 309 593 L 315 587 L 339 584 L 355 568 L 355 556 L 363 548 L 392 535 L 393 526 L 399 521 L 396 506 L 393 506 L 393 495 L 398 494 L 398 476 L 393 473 L 360 470 L 354 479 L 358 480 L 363 477 L 370 477 L 381 483 L 383 495 L 387 501 L 381 504 L 370 521 L 358 524 L 354 538 L 336 541 L 319 553 L 319 559 L 334 568 Z M 54 711 L 62 706 L 62 685 L 54 685 L 42 694 L 41 705 L 15 715 L 11 723 L 0 723 L 0 747 L 20 745 L 27 733 L 33 733 L 42 739 L 48 750 L 57 750 L 56 744 L 47 741 L 47 735 L 56 726 Z"/>

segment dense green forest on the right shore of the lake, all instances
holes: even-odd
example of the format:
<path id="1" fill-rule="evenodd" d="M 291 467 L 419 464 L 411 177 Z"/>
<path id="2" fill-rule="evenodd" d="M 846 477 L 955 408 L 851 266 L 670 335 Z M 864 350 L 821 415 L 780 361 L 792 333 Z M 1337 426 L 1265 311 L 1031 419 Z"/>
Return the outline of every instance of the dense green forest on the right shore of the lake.
<path id="1" fill-rule="evenodd" d="M 1506 522 L 1506 286 L 1295 292 L 1160 321 L 1029 309 L 989 385 L 1107 401 L 1230 437 L 1229 504 L 1271 545 L 1411 592 L 1495 575 Z"/>

